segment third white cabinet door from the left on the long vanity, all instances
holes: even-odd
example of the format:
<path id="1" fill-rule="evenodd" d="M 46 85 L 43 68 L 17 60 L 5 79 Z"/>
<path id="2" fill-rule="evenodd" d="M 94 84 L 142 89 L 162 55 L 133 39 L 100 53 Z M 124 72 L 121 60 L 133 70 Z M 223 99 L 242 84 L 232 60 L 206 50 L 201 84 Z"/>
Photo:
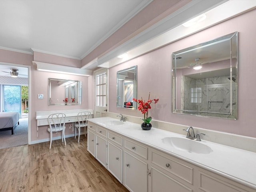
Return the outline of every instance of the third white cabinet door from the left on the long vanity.
<path id="1" fill-rule="evenodd" d="M 108 171 L 122 183 L 123 150 L 108 142 Z"/>

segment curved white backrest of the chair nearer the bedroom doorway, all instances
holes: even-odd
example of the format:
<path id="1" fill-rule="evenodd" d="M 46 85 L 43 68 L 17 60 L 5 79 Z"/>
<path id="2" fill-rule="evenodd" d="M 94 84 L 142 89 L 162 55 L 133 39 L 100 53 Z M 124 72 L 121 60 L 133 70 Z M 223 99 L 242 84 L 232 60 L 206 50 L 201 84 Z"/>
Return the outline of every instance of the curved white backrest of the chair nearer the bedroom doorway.
<path id="1" fill-rule="evenodd" d="M 64 113 L 54 113 L 48 116 L 48 123 L 50 129 L 54 127 L 56 131 L 64 130 L 65 129 L 65 120 L 66 114 Z"/>

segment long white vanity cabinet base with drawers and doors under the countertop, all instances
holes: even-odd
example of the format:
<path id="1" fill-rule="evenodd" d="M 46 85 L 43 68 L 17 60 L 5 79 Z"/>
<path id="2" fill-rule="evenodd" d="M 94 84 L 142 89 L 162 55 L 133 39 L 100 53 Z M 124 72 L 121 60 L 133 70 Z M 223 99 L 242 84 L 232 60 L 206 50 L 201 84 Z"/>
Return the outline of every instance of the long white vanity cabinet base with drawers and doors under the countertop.
<path id="1" fill-rule="evenodd" d="M 117 127 L 115 131 L 89 122 L 87 144 L 88 151 L 131 192 L 256 192 L 232 176 L 147 145 Z"/>

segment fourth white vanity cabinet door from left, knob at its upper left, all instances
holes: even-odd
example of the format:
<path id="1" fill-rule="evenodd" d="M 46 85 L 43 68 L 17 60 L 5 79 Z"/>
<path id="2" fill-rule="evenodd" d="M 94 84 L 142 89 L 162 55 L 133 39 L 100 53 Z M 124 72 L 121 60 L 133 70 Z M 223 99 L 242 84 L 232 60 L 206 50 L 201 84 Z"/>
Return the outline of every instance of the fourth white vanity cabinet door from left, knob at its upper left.
<path id="1" fill-rule="evenodd" d="M 124 151 L 124 186 L 131 192 L 148 191 L 148 164 Z"/>

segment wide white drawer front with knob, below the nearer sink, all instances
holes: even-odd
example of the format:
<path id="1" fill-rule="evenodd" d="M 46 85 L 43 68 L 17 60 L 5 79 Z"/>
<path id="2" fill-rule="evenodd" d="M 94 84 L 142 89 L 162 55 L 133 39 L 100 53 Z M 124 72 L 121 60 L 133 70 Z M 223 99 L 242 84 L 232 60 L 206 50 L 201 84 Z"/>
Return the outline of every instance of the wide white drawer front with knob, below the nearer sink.
<path id="1" fill-rule="evenodd" d="M 186 162 L 180 159 L 174 158 L 168 154 L 162 154 L 160 152 L 152 151 L 152 163 L 167 172 L 181 178 L 182 180 L 193 184 L 194 169 L 190 167 Z"/>

